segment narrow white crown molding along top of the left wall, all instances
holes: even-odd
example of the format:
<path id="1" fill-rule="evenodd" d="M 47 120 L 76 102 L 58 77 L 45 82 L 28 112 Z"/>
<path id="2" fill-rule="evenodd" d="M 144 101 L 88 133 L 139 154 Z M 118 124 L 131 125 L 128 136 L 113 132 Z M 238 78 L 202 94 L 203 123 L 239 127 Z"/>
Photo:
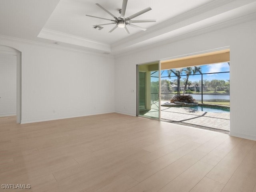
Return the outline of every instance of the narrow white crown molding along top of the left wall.
<path id="1" fill-rule="evenodd" d="M 95 51 L 86 51 L 86 50 L 78 49 L 78 48 L 70 48 L 68 46 L 61 46 L 61 45 L 57 45 L 57 44 L 49 44 L 49 43 L 45 43 L 45 42 L 26 40 L 26 39 L 4 36 L 4 35 L 0 35 L 0 45 L 5 45 L 5 44 L 2 44 L 1 40 L 2 41 L 20 43 L 20 44 L 41 46 L 41 47 L 46 47 L 46 48 L 50 47 L 50 48 L 54 48 L 54 49 L 58 49 L 58 50 L 61 49 L 61 50 L 66 50 L 66 51 L 70 51 L 70 52 L 75 52 L 75 53 L 98 55 L 98 56 L 103 56 L 103 57 L 108 57 L 108 58 L 114 58 L 114 56 L 108 55 L 106 53 L 98 53 L 98 52 L 95 52 Z"/>

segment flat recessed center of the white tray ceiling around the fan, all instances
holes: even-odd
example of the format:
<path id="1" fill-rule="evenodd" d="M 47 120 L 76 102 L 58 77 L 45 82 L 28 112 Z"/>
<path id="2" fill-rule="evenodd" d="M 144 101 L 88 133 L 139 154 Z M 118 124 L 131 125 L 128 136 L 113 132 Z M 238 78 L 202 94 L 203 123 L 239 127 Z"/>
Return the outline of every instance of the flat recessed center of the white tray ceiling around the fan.
<path id="1" fill-rule="evenodd" d="M 156 19 L 157 22 L 136 24 L 143 28 L 150 28 L 210 1 L 212 0 L 128 0 L 125 16 L 128 17 L 151 7 L 152 10 L 134 18 L 134 20 Z M 93 25 L 111 23 L 111 21 L 88 17 L 85 16 L 86 14 L 114 19 L 95 3 L 99 3 L 115 16 L 120 16 L 118 10 L 122 8 L 122 0 L 60 0 L 44 28 L 107 44 L 113 44 L 141 32 L 139 29 L 128 26 L 130 34 L 127 34 L 122 28 L 116 28 L 109 33 L 115 24 L 103 26 L 102 30 L 92 28 Z"/>

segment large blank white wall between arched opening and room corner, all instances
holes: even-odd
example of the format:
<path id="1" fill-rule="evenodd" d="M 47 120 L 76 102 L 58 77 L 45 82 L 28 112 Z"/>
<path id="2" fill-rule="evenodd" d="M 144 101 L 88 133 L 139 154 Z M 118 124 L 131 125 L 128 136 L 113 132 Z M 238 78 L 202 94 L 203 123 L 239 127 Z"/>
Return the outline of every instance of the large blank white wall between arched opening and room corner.
<path id="1" fill-rule="evenodd" d="M 114 112 L 114 59 L 0 39 L 22 54 L 22 123 Z"/>

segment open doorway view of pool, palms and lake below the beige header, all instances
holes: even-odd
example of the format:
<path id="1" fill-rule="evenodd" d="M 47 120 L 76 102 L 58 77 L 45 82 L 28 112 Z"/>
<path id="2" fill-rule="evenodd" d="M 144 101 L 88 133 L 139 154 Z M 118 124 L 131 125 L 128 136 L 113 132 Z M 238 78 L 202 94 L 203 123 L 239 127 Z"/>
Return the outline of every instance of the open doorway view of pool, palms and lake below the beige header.
<path id="1" fill-rule="evenodd" d="M 161 119 L 228 133 L 229 74 L 228 62 L 162 70 Z"/>

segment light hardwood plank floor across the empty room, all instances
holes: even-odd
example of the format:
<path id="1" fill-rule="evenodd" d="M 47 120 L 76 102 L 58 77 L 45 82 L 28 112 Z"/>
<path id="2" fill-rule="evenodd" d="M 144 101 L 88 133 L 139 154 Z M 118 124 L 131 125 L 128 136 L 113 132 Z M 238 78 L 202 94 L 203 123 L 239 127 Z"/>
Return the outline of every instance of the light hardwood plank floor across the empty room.
<path id="1" fill-rule="evenodd" d="M 33 192 L 256 192 L 256 141 L 122 114 L 0 118 L 0 184 Z"/>

